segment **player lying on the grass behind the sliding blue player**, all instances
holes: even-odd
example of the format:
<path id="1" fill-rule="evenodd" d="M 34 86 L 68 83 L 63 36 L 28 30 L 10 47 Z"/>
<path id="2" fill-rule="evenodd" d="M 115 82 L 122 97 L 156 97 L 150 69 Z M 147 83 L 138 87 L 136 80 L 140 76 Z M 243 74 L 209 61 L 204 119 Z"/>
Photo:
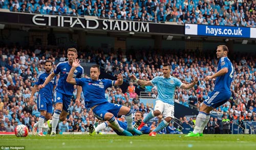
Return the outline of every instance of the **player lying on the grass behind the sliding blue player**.
<path id="1" fill-rule="evenodd" d="M 135 128 L 138 128 L 138 126 L 141 124 L 141 120 L 143 119 L 143 113 L 142 112 L 136 112 L 134 117 L 135 118 L 134 118 L 134 122 L 133 122 L 134 125 L 133 126 Z M 117 122 L 122 128 L 127 127 L 126 122 L 122 122 L 122 121 L 119 121 L 119 120 L 117 120 Z M 105 121 L 105 122 L 99 124 L 95 129 L 94 129 L 94 126 L 92 124 L 90 124 L 89 133 L 90 133 L 90 135 L 99 134 L 100 131 L 104 130 L 108 126 L 113 128 L 113 130 L 116 132 L 117 135 L 123 136 L 123 134 L 120 133 L 118 130 L 116 130 L 116 128 L 114 126 L 112 126 L 109 121 Z M 148 126 L 143 126 L 140 131 L 143 134 L 149 134 L 150 132 L 153 131 L 153 128 L 148 127 Z"/>

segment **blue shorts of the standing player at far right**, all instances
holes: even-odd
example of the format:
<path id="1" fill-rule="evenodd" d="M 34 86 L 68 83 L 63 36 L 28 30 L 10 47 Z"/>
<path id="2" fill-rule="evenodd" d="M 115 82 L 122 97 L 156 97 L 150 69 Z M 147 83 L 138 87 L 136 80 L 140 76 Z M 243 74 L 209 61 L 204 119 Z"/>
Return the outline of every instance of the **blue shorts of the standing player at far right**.
<path id="1" fill-rule="evenodd" d="M 225 102 L 227 102 L 230 96 L 231 95 L 228 93 L 212 91 L 208 95 L 207 99 L 204 100 L 204 104 L 216 109 L 219 106 L 223 105 Z"/>

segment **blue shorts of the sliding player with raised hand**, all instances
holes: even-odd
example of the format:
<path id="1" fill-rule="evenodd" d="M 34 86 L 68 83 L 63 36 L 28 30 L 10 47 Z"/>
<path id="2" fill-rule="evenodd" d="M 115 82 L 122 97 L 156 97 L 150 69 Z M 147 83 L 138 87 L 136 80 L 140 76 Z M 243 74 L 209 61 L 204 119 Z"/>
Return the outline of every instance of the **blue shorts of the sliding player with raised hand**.
<path id="1" fill-rule="evenodd" d="M 105 102 L 105 103 L 97 105 L 96 108 L 93 109 L 93 113 L 94 113 L 95 117 L 97 117 L 98 119 L 104 120 L 104 116 L 106 113 L 111 113 L 115 117 L 118 117 L 118 113 L 119 113 L 121 107 L 122 107 L 122 105 L 120 105 L 120 104 Z"/>

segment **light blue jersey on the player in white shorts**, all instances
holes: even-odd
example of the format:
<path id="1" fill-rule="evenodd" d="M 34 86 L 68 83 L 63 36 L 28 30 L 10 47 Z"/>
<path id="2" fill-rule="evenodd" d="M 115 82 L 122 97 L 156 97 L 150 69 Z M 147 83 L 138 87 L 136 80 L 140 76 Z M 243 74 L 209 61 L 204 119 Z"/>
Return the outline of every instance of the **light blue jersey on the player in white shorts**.
<path id="1" fill-rule="evenodd" d="M 176 87 L 181 87 L 182 82 L 173 76 L 164 78 L 163 76 L 154 77 L 151 83 L 157 86 L 157 99 L 174 105 L 174 93 Z"/>

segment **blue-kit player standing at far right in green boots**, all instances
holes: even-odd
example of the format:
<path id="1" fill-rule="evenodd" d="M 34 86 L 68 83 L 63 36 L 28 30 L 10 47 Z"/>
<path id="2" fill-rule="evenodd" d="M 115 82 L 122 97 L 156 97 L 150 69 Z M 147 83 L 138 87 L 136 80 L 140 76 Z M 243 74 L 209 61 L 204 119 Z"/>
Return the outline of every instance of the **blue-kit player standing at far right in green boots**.
<path id="1" fill-rule="evenodd" d="M 219 58 L 217 73 L 206 76 L 205 80 L 216 78 L 214 91 L 212 91 L 207 99 L 200 106 L 200 110 L 196 120 L 196 126 L 193 132 L 186 137 L 203 136 L 203 130 L 210 118 L 210 111 L 224 104 L 231 96 L 230 85 L 233 80 L 233 65 L 228 59 L 228 48 L 225 45 L 217 47 L 217 58 Z"/>

